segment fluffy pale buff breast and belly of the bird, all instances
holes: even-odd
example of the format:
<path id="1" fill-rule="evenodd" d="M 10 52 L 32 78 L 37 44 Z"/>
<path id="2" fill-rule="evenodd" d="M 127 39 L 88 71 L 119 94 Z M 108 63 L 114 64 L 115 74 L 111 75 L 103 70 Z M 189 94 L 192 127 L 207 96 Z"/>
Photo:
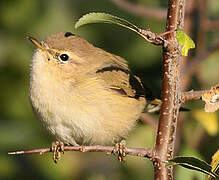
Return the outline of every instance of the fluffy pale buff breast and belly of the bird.
<path id="1" fill-rule="evenodd" d="M 34 111 L 58 140 L 67 144 L 109 144 L 126 137 L 140 116 L 145 100 L 107 89 L 97 77 L 77 83 L 63 81 L 37 52 L 33 57 L 30 99 Z"/>

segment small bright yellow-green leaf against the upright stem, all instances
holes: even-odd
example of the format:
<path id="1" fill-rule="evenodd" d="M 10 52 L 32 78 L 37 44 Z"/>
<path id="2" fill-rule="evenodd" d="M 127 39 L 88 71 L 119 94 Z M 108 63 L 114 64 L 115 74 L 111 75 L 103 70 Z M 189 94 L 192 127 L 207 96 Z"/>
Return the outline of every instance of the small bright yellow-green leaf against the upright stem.
<path id="1" fill-rule="evenodd" d="M 176 31 L 176 39 L 178 43 L 182 46 L 182 56 L 188 56 L 189 49 L 195 48 L 195 43 L 193 42 L 193 40 L 181 29 L 178 29 Z"/>

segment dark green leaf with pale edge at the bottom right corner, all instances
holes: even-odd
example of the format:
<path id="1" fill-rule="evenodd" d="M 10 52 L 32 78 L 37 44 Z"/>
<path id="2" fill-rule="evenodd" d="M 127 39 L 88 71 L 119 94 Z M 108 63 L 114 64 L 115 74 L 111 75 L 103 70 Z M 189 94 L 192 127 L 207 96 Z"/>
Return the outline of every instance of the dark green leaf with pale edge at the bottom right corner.
<path id="1" fill-rule="evenodd" d="M 171 159 L 166 165 L 180 165 L 188 169 L 203 172 L 211 175 L 212 177 L 217 177 L 217 175 L 211 171 L 211 166 L 208 163 L 194 157 L 178 156 L 174 159 Z"/>

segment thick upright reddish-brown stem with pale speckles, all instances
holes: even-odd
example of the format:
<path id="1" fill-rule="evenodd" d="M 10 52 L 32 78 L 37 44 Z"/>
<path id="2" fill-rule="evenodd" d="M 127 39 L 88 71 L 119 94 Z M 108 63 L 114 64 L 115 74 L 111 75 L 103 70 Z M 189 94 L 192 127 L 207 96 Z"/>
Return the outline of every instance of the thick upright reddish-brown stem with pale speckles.
<path id="1" fill-rule="evenodd" d="M 166 31 L 183 29 L 185 0 L 169 0 Z M 173 167 L 166 167 L 165 163 L 173 157 L 176 127 L 180 108 L 180 61 L 181 55 L 176 40 L 176 33 L 166 35 L 171 46 L 163 47 L 163 81 L 162 105 L 155 144 L 154 159 L 155 179 L 173 179 Z"/>

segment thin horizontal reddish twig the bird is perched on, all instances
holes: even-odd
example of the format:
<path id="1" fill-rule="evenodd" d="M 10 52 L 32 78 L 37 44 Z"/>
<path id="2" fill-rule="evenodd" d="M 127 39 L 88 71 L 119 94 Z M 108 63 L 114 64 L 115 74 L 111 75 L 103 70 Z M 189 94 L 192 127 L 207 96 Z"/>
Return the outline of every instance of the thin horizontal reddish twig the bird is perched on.
<path id="1" fill-rule="evenodd" d="M 114 146 L 65 146 L 64 151 L 79 151 L 79 152 L 106 152 L 112 153 L 114 150 Z M 152 157 L 153 149 L 147 148 L 125 148 L 125 153 L 131 156 L 138 157 Z M 40 154 L 52 152 L 51 148 L 42 148 L 42 149 L 33 149 L 27 151 L 14 151 L 9 152 L 10 155 L 18 155 L 18 154 Z"/>

